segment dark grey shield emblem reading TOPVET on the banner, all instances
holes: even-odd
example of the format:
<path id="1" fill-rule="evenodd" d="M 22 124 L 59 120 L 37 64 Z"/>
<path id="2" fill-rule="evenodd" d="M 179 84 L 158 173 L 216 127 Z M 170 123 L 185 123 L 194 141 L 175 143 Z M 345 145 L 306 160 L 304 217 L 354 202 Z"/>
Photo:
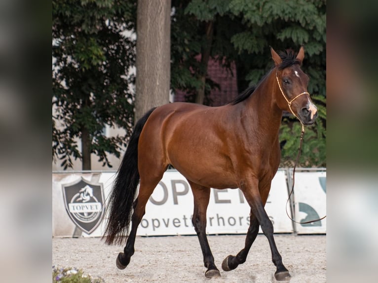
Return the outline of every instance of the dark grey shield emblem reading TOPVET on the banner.
<path id="1" fill-rule="evenodd" d="M 62 185 L 64 204 L 71 220 L 83 232 L 91 234 L 105 215 L 104 189 L 101 183 L 91 183 L 82 177 Z"/>

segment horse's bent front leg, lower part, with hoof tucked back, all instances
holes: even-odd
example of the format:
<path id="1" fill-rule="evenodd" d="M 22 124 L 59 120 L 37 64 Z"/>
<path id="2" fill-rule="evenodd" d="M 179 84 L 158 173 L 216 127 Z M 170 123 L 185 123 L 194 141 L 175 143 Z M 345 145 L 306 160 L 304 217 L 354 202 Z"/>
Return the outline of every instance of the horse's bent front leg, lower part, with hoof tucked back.
<path id="1" fill-rule="evenodd" d="M 248 252 L 259 233 L 259 221 L 255 214 L 250 214 L 250 224 L 245 237 L 245 245 L 242 250 L 236 256 L 228 255 L 222 262 L 222 269 L 224 271 L 230 271 L 235 269 L 239 264 L 244 263 L 247 259 Z"/>

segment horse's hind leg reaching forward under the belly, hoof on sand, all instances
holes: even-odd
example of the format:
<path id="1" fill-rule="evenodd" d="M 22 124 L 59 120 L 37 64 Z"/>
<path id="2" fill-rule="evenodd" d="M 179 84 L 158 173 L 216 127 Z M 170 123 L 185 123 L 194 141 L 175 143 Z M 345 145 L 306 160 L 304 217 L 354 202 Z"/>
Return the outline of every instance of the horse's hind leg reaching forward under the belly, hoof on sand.
<path id="1" fill-rule="evenodd" d="M 214 263 L 214 256 L 211 253 L 206 237 L 206 210 L 210 199 L 210 188 L 203 187 L 189 181 L 194 198 L 194 212 L 192 223 L 197 233 L 199 245 L 202 249 L 203 262 L 207 268 L 205 276 L 207 278 L 220 277 L 221 274 Z"/>

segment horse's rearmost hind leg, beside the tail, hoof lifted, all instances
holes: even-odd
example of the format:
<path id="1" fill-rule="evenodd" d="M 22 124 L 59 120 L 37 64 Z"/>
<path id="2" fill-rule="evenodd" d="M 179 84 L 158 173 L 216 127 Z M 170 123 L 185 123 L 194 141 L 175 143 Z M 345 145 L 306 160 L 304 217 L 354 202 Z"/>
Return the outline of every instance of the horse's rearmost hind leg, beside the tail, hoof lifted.
<path id="1" fill-rule="evenodd" d="M 163 171 L 164 173 L 164 171 Z M 149 200 L 154 188 L 158 184 L 159 180 L 163 176 L 161 173 L 160 177 L 155 177 L 153 180 L 144 181 L 141 178 L 141 183 L 139 186 L 138 198 L 134 202 L 134 211 L 131 218 L 131 230 L 127 238 L 126 246 L 123 252 L 118 254 L 116 259 L 116 265 L 119 269 L 124 269 L 130 263 L 130 258 L 134 254 L 134 244 L 137 234 L 137 229 L 139 223 L 142 221 L 143 215 L 146 212 L 146 204 Z"/>

